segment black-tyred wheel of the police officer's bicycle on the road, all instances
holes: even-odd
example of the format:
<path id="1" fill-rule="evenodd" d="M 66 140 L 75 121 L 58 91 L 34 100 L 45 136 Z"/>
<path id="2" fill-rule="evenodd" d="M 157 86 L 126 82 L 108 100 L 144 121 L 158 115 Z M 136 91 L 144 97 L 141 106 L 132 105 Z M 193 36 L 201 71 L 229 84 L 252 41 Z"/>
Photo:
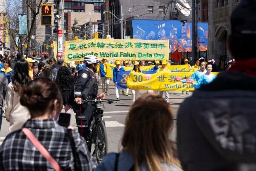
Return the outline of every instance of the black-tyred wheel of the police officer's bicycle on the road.
<path id="1" fill-rule="evenodd" d="M 96 125 L 95 153 L 98 163 L 100 163 L 103 157 L 108 153 L 108 138 L 103 121 L 98 122 Z"/>

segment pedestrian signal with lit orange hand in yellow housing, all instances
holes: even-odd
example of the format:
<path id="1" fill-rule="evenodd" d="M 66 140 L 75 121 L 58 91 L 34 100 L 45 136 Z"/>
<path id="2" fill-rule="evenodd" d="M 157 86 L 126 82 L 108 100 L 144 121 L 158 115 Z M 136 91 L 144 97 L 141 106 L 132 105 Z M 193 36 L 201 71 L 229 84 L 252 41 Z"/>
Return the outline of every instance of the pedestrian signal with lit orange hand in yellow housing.
<path id="1" fill-rule="evenodd" d="M 52 4 L 41 5 L 41 24 L 45 26 L 52 25 Z"/>

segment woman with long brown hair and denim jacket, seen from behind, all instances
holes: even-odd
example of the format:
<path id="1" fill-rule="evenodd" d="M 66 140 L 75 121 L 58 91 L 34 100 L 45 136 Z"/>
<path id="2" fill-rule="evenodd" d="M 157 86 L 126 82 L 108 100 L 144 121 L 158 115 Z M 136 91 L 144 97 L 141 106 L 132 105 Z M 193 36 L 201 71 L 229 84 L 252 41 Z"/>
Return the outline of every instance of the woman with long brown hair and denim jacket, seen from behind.
<path id="1" fill-rule="evenodd" d="M 125 120 L 122 151 L 108 154 L 96 171 L 180 171 L 169 139 L 173 123 L 172 108 L 162 97 L 140 96 Z"/>

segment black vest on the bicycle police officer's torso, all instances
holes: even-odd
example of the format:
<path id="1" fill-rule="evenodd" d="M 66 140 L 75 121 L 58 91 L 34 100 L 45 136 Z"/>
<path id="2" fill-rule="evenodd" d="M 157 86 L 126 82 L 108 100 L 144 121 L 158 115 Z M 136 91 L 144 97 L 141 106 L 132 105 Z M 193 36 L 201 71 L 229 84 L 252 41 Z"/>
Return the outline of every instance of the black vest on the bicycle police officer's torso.
<path id="1" fill-rule="evenodd" d="M 84 70 L 89 72 L 89 81 L 87 81 L 85 88 L 81 93 L 82 98 L 88 100 L 96 99 L 98 93 L 98 81 L 92 71 L 88 70 L 87 68 Z"/>

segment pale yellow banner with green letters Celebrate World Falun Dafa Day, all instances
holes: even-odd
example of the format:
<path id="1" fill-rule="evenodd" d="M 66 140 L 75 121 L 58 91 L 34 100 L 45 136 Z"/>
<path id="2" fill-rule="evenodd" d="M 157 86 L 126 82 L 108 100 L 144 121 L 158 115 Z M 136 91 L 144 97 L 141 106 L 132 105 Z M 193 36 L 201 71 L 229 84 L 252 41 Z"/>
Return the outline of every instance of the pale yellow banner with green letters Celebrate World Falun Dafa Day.
<path id="1" fill-rule="evenodd" d="M 65 61 L 82 61 L 86 55 L 107 60 L 168 60 L 169 40 L 89 39 L 65 41 Z"/>

